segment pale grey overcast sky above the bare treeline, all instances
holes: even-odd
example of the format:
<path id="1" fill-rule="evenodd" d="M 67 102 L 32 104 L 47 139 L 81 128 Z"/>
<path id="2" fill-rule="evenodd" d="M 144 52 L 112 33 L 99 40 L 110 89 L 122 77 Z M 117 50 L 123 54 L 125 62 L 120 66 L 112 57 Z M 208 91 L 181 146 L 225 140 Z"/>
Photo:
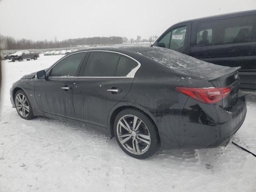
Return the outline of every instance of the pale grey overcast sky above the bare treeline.
<path id="1" fill-rule="evenodd" d="M 0 34 L 32 40 L 159 36 L 176 22 L 256 9 L 256 0 L 1 0 Z"/>

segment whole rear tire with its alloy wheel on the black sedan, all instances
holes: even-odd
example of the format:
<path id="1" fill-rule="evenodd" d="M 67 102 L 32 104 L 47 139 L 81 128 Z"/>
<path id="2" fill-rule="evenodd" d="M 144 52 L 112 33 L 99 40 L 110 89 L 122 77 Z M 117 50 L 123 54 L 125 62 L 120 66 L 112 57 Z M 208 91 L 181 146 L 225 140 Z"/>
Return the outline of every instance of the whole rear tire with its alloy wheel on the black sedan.
<path id="1" fill-rule="evenodd" d="M 136 120 L 135 128 L 133 128 L 134 120 Z M 114 121 L 114 135 L 120 148 L 137 159 L 146 159 L 160 148 L 156 125 L 140 110 L 128 108 L 119 112 Z"/>

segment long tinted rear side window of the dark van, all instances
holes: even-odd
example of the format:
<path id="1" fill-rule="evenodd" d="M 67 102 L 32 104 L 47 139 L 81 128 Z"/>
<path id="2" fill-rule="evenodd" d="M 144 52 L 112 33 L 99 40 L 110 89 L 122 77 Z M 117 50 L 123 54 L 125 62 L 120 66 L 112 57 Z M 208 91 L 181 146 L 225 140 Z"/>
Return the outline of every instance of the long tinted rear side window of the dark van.
<path id="1" fill-rule="evenodd" d="M 197 46 L 256 41 L 256 15 L 203 22 L 197 28 Z"/>

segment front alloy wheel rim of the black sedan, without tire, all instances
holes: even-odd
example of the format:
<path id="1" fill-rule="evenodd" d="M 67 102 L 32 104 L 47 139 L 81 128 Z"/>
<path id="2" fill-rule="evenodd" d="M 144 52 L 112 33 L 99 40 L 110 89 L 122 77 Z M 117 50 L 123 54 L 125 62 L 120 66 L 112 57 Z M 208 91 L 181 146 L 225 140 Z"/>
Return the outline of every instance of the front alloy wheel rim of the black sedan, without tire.
<path id="1" fill-rule="evenodd" d="M 15 104 L 18 113 L 22 117 L 26 118 L 29 115 L 29 104 L 27 98 L 23 94 L 19 93 L 16 95 Z"/>

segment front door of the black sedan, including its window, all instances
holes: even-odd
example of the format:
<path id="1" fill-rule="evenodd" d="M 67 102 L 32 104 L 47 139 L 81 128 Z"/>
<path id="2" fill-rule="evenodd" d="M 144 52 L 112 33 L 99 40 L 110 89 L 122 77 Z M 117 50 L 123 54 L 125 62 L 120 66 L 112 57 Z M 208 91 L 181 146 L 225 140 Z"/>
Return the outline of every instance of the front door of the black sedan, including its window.
<path id="1" fill-rule="evenodd" d="M 35 97 L 42 112 L 74 118 L 72 91 L 85 55 L 78 52 L 62 58 L 47 72 L 47 79 L 38 79 Z"/>

